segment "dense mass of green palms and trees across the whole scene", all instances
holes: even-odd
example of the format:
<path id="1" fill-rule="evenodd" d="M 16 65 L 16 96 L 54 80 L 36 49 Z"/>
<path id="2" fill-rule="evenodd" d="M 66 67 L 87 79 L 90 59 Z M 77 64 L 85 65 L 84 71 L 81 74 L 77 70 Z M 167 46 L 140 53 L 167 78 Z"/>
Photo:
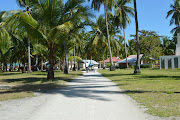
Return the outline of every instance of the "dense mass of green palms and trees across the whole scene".
<path id="1" fill-rule="evenodd" d="M 139 30 L 136 0 L 135 9 L 128 6 L 131 0 L 90 1 L 94 10 L 104 6 L 105 13 L 99 16 L 93 15 L 85 2 L 17 0 L 23 10 L 0 12 L 1 70 L 13 70 L 11 67 L 8 69 L 7 64 L 20 63 L 19 67 L 23 67 L 22 72 L 25 73 L 28 57 L 31 57 L 33 68 L 48 70 L 47 79 L 53 80 L 55 67 L 68 74 L 69 62 L 74 64 L 73 70 L 77 70 L 81 59 L 104 61 L 110 58 L 110 70 L 114 70 L 112 57 L 124 59 L 128 55 L 139 56 L 142 53 L 158 58 L 175 53 L 176 37 L 171 39 L 159 36 L 155 31 Z M 126 40 L 125 30 L 134 16 L 136 35 Z M 173 29 L 176 34 L 180 23 L 179 0 L 171 5 L 167 13 L 167 17 L 170 16 L 170 24 L 176 25 Z M 140 72 L 139 62 L 135 71 Z"/>

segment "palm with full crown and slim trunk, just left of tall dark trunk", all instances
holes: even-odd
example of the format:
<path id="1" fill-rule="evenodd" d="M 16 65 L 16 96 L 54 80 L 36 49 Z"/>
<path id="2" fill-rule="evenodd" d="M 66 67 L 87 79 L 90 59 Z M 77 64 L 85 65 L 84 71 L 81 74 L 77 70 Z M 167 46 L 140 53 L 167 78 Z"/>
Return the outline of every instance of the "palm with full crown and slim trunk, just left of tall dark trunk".
<path id="1" fill-rule="evenodd" d="M 125 29 L 127 24 L 130 24 L 131 20 L 128 15 L 134 16 L 133 8 L 126 6 L 126 4 L 131 3 L 131 0 L 118 0 L 117 1 L 117 9 L 115 11 L 115 16 L 118 18 L 116 24 L 120 26 L 124 33 L 124 46 L 125 46 L 125 54 L 126 54 L 126 66 L 128 66 L 127 61 L 127 48 L 126 48 L 126 38 L 125 38 Z"/>

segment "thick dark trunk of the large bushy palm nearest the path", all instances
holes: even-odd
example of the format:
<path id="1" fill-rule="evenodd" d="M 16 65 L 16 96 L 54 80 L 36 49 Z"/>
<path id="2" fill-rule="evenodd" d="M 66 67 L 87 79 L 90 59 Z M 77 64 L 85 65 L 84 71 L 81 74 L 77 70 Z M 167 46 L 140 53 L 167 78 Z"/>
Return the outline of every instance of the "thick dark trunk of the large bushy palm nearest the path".
<path id="1" fill-rule="evenodd" d="M 54 49 L 52 48 L 52 43 L 50 45 L 50 52 L 49 52 L 49 70 L 48 70 L 48 75 L 47 79 L 49 81 L 53 81 L 54 79 Z"/>

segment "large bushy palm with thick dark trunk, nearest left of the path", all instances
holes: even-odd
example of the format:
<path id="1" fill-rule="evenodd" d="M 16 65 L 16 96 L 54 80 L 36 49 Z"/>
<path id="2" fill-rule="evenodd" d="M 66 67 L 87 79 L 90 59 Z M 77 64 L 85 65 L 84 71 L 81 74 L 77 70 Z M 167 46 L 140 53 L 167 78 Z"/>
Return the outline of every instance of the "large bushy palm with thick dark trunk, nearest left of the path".
<path id="1" fill-rule="evenodd" d="M 87 13 L 84 12 L 87 8 L 82 6 L 83 2 L 84 0 L 69 0 L 64 4 L 61 0 L 37 1 L 32 8 L 34 10 L 33 13 L 37 12 L 39 16 L 35 16 L 33 13 L 31 15 L 27 12 L 19 12 L 6 20 L 8 25 L 17 23 L 16 27 L 27 31 L 32 40 L 39 39 L 39 42 L 48 48 L 50 64 L 47 75 L 48 80 L 52 81 L 54 79 L 53 67 L 58 49 L 57 45 L 64 44 L 65 58 L 68 61 L 68 34 L 74 28 L 77 21 L 80 21 L 82 16 Z M 71 10 L 76 10 L 76 12 L 70 14 Z M 67 64 L 65 64 L 67 68 L 65 70 L 68 73 Z"/>

